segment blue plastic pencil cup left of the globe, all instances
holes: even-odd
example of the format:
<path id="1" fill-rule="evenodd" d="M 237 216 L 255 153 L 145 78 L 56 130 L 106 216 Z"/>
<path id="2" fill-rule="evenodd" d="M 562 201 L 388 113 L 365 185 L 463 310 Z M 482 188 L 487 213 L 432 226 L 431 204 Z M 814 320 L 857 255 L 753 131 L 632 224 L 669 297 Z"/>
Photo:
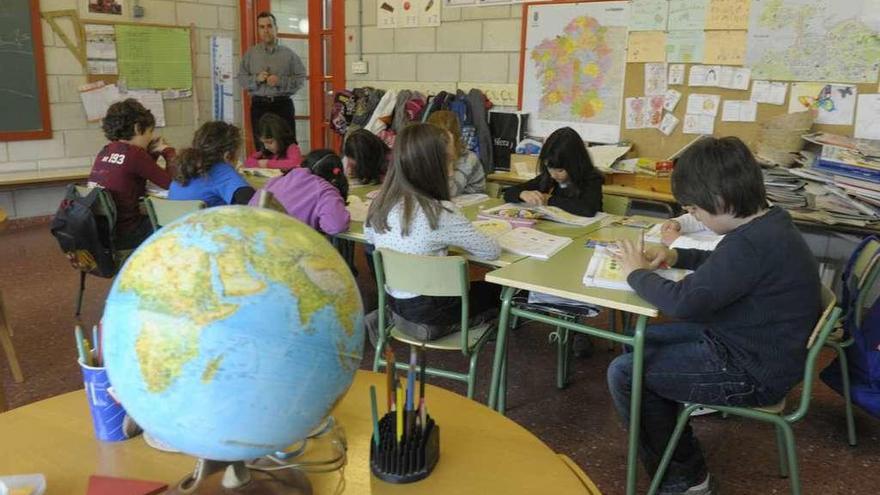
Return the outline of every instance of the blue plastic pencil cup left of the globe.
<path id="1" fill-rule="evenodd" d="M 89 401 L 89 410 L 92 412 L 95 436 L 104 442 L 128 440 L 131 420 L 126 420 L 122 404 L 110 394 L 107 369 L 88 366 L 82 361 L 79 361 L 79 366 L 83 371 L 83 384 L 86 389 L 86 400 Z"/>

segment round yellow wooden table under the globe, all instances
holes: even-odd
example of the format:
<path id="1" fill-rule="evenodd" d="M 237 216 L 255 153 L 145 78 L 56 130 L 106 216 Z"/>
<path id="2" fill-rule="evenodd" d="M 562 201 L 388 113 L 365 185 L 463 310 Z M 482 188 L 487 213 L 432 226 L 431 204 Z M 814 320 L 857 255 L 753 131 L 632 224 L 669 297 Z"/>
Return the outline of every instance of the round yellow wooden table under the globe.
<path id="1" fill-rule="evenodd" d="M 440 460 L 428 478 L 391 485 L 370 475 L 372 419 L 369 386 L 380 396 L 385 375 L 358 371 L 333 410 L 348 441 L 344 492 L 350 494 L 579 494 L 595 485 L 522 426 L 477 402 L 427 386 L 430 414 L 440 426 Z M 384 404 L 384 401 L 380 401 Z M 160 452 L 142 437 L 102 443 L 92 433 L 82 390 L 0 414 L 0 473 L 44 473 L 47 495 L 82 494 L 92 474 L 159 481 L 173 486 L 195 465 L 183 454 Z M 309 475 L 313 493 L 337 493 L 340 473 Z"/>

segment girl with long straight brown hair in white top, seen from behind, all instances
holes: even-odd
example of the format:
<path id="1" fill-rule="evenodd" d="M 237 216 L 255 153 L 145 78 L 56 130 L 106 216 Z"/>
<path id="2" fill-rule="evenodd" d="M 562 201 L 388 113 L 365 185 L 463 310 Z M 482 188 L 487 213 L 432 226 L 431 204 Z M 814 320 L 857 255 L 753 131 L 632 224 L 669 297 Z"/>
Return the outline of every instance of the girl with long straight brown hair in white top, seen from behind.
<path id="1" fill-rule="evenodd" d="M 449 246 L 493 260 L 498 243 L 477 231 L 449 201 L 448 173 L 452 169 L 446 131 L 431 124 L 413 124 L 397 136 L 391 170 L 373 200 L 364 224 L 367 241 L 377 248 L 426 256 L 446 256 Z M 471 316 L 499 305 L 501 287 L 472 282 Z M 427 340 L 454 331 L 460 323 L 461 298 L 420 296 L 388 291 L 391 310 L 406 321 L 426 325 Z"/>

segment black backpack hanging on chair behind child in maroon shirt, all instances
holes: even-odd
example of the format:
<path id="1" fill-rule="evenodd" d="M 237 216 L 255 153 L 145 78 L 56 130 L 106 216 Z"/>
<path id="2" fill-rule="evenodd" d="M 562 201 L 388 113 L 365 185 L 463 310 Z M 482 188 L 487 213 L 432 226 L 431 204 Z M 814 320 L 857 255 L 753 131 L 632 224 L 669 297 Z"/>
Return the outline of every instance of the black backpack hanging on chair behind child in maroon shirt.
<path id="1" fill-rule="evenodd" d="M 96 187 L 80 196 L 75 185 L 67 186 L 51 231 L 70 264 L 83 276 L 112 278 L 117 268 L 113 257 L 114 226 L 106 216 L 95 214 L 102 191 Z"/>

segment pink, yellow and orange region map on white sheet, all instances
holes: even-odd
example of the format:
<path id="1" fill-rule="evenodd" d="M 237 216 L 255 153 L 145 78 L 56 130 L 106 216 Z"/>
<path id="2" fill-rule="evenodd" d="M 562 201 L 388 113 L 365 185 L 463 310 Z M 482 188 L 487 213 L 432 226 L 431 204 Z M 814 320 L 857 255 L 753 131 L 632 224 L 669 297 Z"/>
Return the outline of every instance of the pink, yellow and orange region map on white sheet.
<path id="1" fill-rule="evenodd" d="M 620 139 L 628 2 L 528 6 L 521 109 L 530 133 L 570 126 L 586 141 Z"/>

